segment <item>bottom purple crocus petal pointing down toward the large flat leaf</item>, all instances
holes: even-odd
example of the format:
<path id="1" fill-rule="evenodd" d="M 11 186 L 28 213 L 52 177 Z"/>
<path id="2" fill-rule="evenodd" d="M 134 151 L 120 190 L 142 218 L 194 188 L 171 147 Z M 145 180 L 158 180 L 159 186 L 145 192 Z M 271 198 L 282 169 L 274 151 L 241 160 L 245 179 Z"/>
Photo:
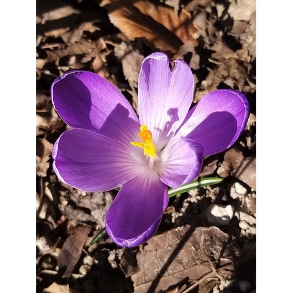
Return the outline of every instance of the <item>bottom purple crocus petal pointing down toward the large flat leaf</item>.
<path id="1" fill-rule="evenodd" d="M 168 205 L 168 189 L 159 176 L 145 173 L 125 183 L 106 213 L 105 226 L 121 247 L 134 247 L 154 235 Z"/>

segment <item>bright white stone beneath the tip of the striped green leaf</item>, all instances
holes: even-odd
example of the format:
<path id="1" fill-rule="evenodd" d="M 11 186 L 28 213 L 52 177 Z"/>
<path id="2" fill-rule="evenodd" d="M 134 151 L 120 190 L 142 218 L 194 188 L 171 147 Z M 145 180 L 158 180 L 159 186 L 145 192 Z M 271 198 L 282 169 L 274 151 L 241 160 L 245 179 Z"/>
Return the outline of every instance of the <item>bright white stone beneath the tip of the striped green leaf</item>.
<path id="1" fill-rule="evenodd" d="M 207 220 L 215 226 L 228 225 L 233 218 L 234 207 L 232 205 L 212 204 L 207 209 Z"/>

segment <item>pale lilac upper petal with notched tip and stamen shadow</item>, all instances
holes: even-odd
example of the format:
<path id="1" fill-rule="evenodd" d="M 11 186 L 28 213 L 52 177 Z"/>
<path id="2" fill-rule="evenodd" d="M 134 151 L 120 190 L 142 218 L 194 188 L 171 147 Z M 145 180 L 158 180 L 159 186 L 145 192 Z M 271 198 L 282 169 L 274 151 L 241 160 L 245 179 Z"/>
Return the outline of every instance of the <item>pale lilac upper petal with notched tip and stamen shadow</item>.
<path id="1" fill-rule="evenodd" d="M 160 151 L 188 113 L 193 100 L 194 78 L 183 60 L 170 70 L 168 56 L 146 57 L 138 78 L 138 110 L 141 125 L 147 125 Z"/>

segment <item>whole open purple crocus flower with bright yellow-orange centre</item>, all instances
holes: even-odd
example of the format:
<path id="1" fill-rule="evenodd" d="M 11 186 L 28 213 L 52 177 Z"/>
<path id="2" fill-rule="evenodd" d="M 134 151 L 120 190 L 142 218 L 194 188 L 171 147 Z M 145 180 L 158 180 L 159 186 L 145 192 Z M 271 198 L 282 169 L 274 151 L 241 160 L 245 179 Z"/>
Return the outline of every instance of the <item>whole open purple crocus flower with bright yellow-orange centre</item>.
<path id="1" fill-rule="evenodd" d="M 249 105 L 239 91 L 222 89 L 193 108 L 194 79 L 164 53 L 146 57 L 138 79 L 139 118 L 108 81 L 70 71 L 51 87 L 52 103 L 72 127 L 54 144 L 58 178 L 87 192 L 121 187 L 105 226 L 119 246 L 147 241 L 168 204 L 168 186 L 195 179 L 204 156 L 229 148 L 243 131 Z"/>

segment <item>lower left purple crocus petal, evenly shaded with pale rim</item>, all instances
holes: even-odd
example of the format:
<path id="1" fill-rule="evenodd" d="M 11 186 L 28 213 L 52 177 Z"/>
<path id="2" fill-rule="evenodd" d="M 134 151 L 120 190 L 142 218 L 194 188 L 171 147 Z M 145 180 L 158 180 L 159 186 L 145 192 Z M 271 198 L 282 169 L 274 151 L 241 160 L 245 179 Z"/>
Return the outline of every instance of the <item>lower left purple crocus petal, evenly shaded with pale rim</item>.
<path id="1" fill-rule="evenodd" d="M 58 178 L 88 192 L 106 191 L 138 174 L 129 147 L 86 129 L 65 131 L 55 142 L 52 157 Z"/>

